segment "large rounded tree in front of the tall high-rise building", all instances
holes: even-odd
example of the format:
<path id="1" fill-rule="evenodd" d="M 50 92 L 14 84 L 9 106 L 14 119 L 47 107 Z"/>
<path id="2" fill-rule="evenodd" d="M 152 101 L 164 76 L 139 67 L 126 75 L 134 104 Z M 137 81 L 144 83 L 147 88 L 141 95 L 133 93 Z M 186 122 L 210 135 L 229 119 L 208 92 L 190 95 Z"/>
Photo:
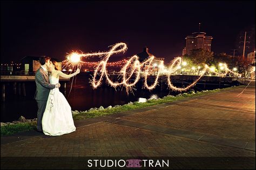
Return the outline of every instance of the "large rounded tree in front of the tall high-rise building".
<path id="1" fill-rule="evenodd" d="M 213 52 L 204 49 L 192 50 L 189 57 L 194 64 L 208 64 L 213 59 Z"/>

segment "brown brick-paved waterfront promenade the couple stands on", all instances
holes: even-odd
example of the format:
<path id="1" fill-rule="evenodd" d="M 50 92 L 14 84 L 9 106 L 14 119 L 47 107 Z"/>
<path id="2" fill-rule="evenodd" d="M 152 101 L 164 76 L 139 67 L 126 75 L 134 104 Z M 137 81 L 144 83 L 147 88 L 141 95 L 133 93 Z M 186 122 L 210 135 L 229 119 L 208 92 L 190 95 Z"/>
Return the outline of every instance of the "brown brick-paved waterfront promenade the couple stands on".
<path id="1" fill-rule="evenodd" d="M 85 168 L 75 163 L 77 157 L 82 162 L 84 157 L 176 158 L 170 169 L 253 169 L 255 81 L 246 89 L 237 86 L 75 125 L 76 132 L 59 137 L 36 131 L 1 137 L 1 169 Z M 35 161 L 23 164 L 26 159 Z"/>

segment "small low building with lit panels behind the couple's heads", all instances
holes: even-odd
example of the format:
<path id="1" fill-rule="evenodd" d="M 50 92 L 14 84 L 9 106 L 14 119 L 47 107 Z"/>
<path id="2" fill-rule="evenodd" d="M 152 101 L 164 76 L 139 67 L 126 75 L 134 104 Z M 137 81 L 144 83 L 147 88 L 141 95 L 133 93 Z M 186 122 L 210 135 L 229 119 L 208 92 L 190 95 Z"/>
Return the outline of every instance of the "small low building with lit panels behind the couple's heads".
<path id="1" fill-rule="evenodd" d="M 59 62 L 57 59 L 54 60 L 58 62 L 58 69 L 62 70 L 62 62 Z M 29 72 L 36 72 L 41 66 L 41 64 L 39 63 L 39 57 L 26 56 L 23 57 L 21 61 L 21 68 L 24 71 L 25 75 L 29 74 Z M 47 70 L 50 71 L 49 68 L 47 68 Z"/>

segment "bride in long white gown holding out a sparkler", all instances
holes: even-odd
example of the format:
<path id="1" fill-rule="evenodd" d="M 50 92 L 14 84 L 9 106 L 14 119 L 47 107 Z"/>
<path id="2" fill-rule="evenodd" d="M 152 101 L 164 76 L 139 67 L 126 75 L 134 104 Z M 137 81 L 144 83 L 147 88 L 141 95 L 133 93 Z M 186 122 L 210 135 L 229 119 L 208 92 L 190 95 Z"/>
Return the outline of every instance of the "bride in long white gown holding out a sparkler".
<path id="1" fill-rule="evenodd" d="M 70 78 L 80 72 L 80 70 L 77 69 L 75 73 L 70 75 L 65 74 L 58 70 L 57 62 L 55 60 L 51 60 L 51 62 L 51 74 L 49 76 L 51 84 L 59 83 L 59 76 Z M 42 127 L 44 134 L 51 136 L 57 136 L 76 131 L 71 107 L 58 88 L 50 90 L 46 108 L 43 114 Z"/>

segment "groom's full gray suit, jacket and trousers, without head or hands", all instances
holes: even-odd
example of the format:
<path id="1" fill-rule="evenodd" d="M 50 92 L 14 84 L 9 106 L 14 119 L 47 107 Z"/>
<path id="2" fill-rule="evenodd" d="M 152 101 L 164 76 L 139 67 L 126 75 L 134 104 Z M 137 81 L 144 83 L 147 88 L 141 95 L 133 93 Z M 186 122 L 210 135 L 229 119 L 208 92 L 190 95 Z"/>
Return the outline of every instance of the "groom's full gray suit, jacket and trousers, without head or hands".
<path id="1" fill-rule="evenodd" d="M 36 71 L 36 94 L 35 99 L 37 101 L 37 130 L 42 131 L 42 118 L 46 107 L 47 99 L 50 93 L 50 89 L 55 89 L 55 84 L 50 84 L 49 76 L 42 67 Z"/>

